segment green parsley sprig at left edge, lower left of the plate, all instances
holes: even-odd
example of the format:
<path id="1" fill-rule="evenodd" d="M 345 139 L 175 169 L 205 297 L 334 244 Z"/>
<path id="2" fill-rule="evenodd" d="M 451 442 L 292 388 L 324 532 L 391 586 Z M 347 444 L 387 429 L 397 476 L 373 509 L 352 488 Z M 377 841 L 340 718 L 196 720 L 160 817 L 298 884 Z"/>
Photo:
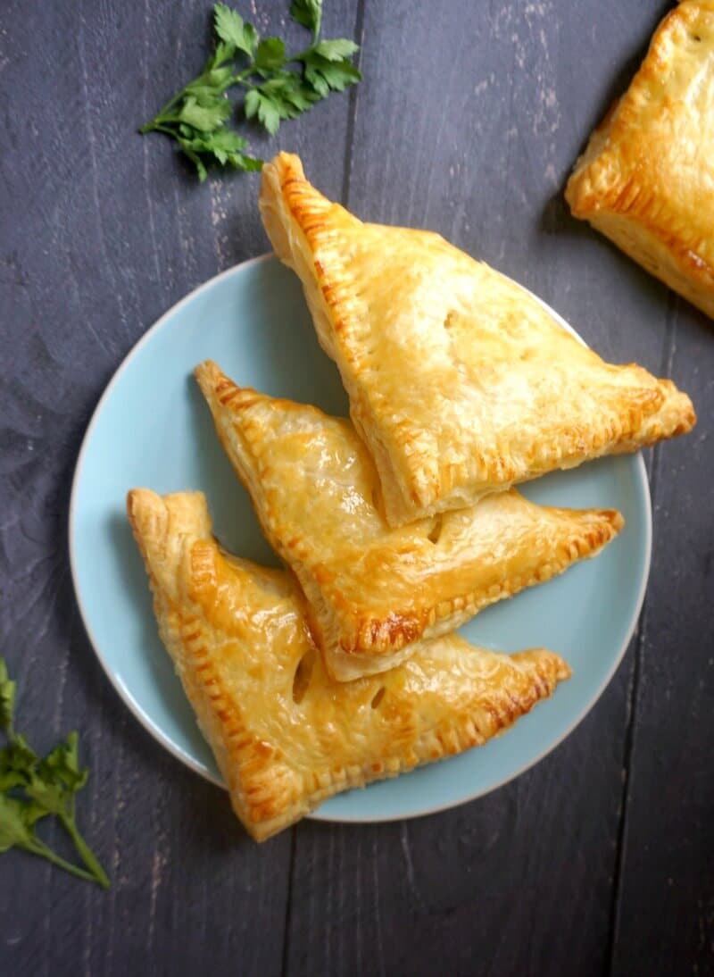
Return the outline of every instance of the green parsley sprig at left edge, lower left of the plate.
<path id="1" fill-rule="evenodd" d="M 0 730 L 7 740 L 0 749 L 0 854 L 23 848 L 106 888 L 106 873 L 76 823 L 76 793 L 88 776 L 79 767 L 77 734 L 70 733 L 47 756 L 38 756 L 15 730 L 15 691 L 16 683 L 0 658 Z M 72 839 L 84 868 L 63 859 L 38 837 L 35 825 L 48 816 L 56 817 Z"/>

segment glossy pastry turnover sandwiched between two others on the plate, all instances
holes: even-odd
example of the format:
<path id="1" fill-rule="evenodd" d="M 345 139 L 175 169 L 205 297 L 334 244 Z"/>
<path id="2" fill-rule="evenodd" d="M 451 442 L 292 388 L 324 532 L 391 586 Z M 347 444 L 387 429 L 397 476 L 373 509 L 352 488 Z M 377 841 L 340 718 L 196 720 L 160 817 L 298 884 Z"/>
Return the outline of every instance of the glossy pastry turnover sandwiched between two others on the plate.
<path id="1" fill-rule="evenodd" d="M 210 361 L 196 377 L 338 680 L 393 667 L 421 639 L 593 556 L 622 526 L 617 512 L 545 508 L 513 489 L 390 529 L 349 421 L 240 389 Z"/>

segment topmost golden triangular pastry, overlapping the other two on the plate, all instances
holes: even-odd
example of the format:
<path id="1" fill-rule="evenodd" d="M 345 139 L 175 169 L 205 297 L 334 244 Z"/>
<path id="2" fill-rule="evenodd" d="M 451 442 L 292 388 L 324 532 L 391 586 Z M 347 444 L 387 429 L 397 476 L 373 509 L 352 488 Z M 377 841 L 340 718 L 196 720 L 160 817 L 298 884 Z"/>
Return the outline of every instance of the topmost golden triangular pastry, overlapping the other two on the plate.
<path id="1" fill-rule="evenodd" d="M 671 381 L 602 361 L 439 234 L 362 224 L 297 156 L 264 168 L 260 206 L 340 369 L 391 525 L 692 428 Z"/>

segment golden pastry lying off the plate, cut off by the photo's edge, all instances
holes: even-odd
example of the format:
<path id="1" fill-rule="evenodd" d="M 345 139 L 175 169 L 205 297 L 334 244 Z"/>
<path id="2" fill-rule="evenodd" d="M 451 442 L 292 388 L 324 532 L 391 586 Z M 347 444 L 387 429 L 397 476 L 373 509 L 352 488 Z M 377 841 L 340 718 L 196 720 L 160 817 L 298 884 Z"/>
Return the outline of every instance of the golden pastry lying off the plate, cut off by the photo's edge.
<path id="1" fill-rule="evenodd" d="M 567 190 L 652 275 L 714 317 L 714 0 L 668 14 Z"/>

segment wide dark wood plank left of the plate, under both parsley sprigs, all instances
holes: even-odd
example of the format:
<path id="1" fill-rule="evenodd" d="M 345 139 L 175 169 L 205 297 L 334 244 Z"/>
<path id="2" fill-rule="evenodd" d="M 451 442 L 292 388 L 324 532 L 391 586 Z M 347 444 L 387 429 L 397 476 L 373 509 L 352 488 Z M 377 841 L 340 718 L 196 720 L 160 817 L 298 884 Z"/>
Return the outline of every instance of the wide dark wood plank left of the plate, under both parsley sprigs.
<path id="1" fill-rule="evenodd" d="M 286 9 L 262 4 L 261 28 L 281 29 Z M 281 965 L 289 832 L 250 843 L 225 794 L 139 727 L 84 635 L 66 552 L 74 461 L 111 372 L 190 288 L 268 249 L 257 176 L 200 187 L 166 140 L 136 133 L 202 64 L 209 10 L 162 0 L 3 11 L 1 653 L 38 746 L 81 730 L 92 776 L 80 821 L 112 877 L 103 893 L 22 854 L 0 859 L 3 974 Z M 325 26 L 351 34 L 354 18 L 331 4 Z M 280 140 L 336 193 L 348 110 L 347 96 L 333 98 Z"/>

